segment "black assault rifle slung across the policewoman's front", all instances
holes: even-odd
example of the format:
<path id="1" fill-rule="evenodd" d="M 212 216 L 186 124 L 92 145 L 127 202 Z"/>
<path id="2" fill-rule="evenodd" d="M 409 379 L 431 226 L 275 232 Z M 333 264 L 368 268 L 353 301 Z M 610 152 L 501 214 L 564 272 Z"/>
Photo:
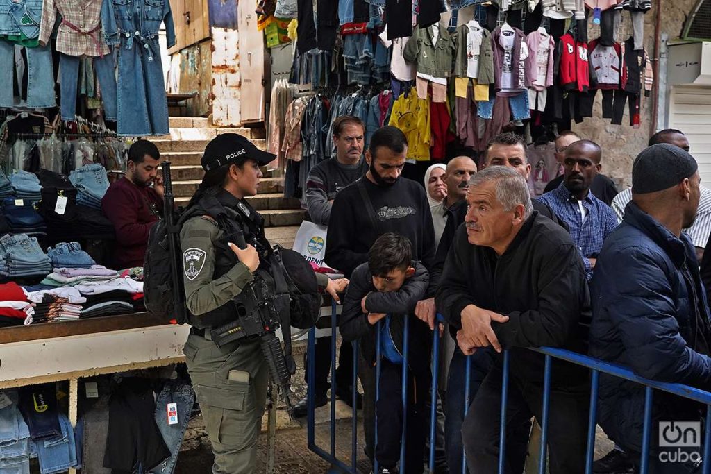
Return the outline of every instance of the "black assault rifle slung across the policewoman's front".
<path id="1" fill-rule="evenodd" d="M 237 231 L 235 238 L 237 247 L 246 249 L 245 235 L 242 230 Z M 262 355 L 267 360 L 269 376 L 272 382 L 279 387 L 279 392 L 287 404 L 289 418 L 294 419 L 292 400 L 289 397 L 291 389 L 291 373 L 284 355 L 282 343 L 277 338 L 280 319 L 276 306 L 274 306 L 274 293 L 270 291 L 267 281 L 255 274 L 254 280 L 247 284 L 239 298 L 237 306 L 237 320 L 210 330 L 213 343 L 221 348 L 227 343 L 242 338 L 258 336 L 262 347 Z"/>

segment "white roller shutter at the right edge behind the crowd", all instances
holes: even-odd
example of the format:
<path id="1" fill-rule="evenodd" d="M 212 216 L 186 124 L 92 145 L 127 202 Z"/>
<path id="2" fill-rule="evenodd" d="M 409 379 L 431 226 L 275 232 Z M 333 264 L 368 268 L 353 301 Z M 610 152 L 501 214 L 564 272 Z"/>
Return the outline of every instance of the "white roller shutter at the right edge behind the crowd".
<path id="1" fill-rule="evenodd" d="M 711 87 L 674 86 L 669 128 L 683 131 L 699 163 L 701 182 L 711 186 Z"/>

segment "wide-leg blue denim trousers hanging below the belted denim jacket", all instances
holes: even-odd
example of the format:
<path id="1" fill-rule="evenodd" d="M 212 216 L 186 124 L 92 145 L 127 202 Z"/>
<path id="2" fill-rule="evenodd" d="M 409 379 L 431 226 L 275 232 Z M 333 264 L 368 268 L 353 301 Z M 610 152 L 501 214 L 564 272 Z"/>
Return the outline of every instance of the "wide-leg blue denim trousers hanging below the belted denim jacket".
<path id="1" fill-rule="evenodd" d="M 118 134 L 167 135 L 168 101 L 158 37 L 122 36 L 117 85 Z"/>

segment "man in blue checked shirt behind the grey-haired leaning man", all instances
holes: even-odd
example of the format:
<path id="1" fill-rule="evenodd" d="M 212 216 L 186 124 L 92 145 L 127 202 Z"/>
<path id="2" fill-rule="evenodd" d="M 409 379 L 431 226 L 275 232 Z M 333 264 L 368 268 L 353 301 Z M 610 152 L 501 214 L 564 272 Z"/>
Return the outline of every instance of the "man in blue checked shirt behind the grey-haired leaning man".
<path id="1" fill-rule="evenodd" d="M 565 151 L 563 182 L 538 198 L 567 224 L 588 280 L 604 239 L 617 227 L 614 211 L 590 192 L 590 185 L 602 168 L 601 159 L 602 149 L 594 141 L 574 142 Z"/>

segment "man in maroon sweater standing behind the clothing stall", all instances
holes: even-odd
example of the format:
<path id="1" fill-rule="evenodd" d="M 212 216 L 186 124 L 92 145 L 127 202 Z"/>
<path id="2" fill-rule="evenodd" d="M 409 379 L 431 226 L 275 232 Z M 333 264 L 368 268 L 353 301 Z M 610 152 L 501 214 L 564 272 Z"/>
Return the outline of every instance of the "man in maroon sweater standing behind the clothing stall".
<path id="1" fill-rule="evenodd" d="M 126 176 L 109 186 L 101 200 L 102 210 L 116 230 L 114 266 L 118 269 L 143 266 L 149 231 L 163 210 L 160 159 L 158 148 L 150 141 L 134 143 Z"/>

